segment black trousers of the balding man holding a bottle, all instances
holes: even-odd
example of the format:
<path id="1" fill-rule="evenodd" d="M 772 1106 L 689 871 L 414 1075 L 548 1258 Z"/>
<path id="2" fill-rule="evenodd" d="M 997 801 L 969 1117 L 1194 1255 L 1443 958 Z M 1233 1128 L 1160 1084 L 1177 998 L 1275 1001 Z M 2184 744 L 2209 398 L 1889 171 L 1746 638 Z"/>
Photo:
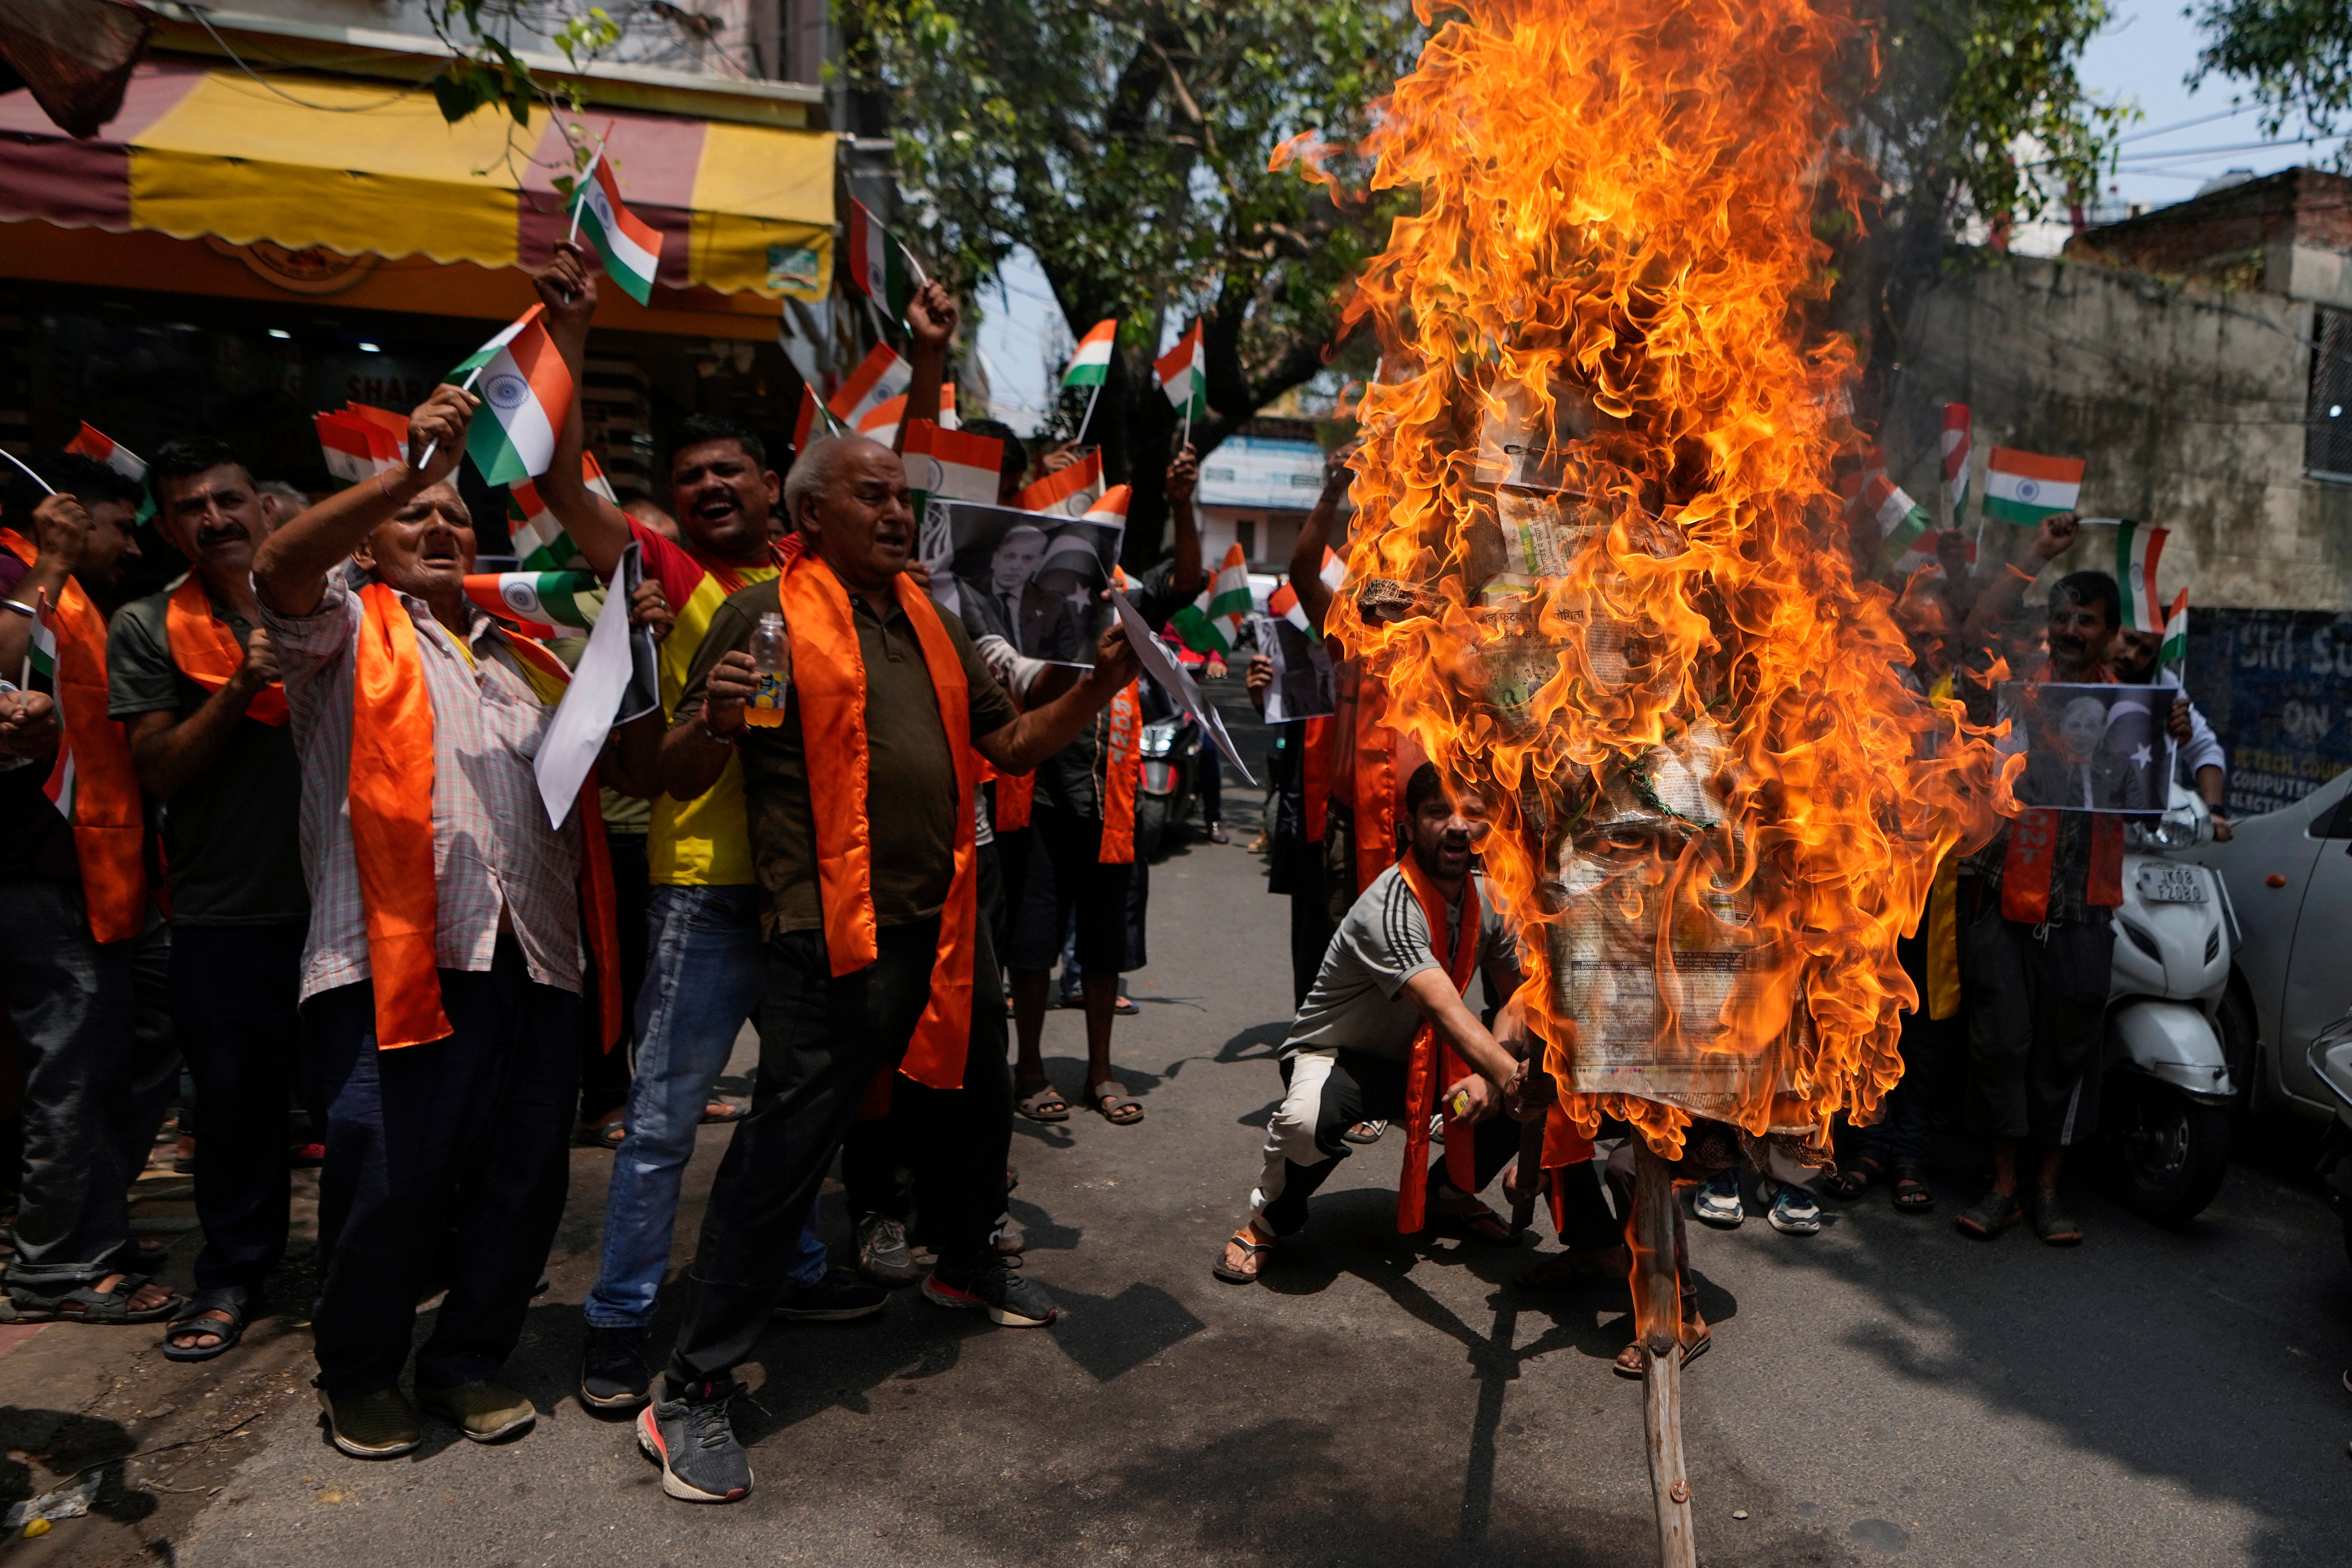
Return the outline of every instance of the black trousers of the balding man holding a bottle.
<path id="1" fill-rule="evenodd" d="M 835 978 L 821 931 L 769 938 L 760 997 L 760 1077 L 736 1124 L 694 1248 L 687 1321 L 670 1352 L 670 1396 L 748 1361 L 788 1288 L 790 1239 L 877 1072 L 896 1072 L 931 999 L 938 922 L 882 926 L 880 954 Z M 964 1276 L 988 1258 L 1004 1208 L 1014 1084 L 1004 1063 L 1004 992 L 981 922 L 964 1086 L 896 1079 L 894 1121 L 913 1152 L 915 1201 L 938 1267 Z"/>

